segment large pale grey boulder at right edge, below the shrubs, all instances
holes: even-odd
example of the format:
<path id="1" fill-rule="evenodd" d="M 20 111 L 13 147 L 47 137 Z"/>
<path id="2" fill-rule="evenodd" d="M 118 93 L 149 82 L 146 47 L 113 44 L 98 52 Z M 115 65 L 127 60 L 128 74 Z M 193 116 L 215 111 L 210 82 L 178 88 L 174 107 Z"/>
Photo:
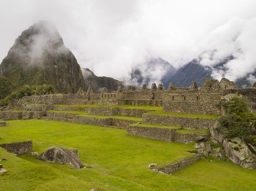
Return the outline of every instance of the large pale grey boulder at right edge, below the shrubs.
<path id="1" fill-rule="evenodd" d="M 240 138 L 225 139 L 223 141 L 223 147 L 227 157 L 233 163 L 239 164 L 246 169 L 256 168 L 254 154 L 249 150 L 246 142 Z"/>

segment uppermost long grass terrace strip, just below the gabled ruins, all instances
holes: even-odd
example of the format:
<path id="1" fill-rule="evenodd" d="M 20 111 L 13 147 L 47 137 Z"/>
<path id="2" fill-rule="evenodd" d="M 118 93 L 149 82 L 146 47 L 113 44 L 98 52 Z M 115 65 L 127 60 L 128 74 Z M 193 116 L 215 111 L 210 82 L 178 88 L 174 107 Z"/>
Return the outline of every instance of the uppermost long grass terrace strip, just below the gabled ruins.
<path id="1" fill-rule="evenodd" d="M 135 105 L 56 105 L 59 107 L 69 107 L 69 108 L 127 108 L 127 109 L 142 109 L 142 110 L 155 110 L 162 111 L 162 107 L 158 106 L 135 106 Z"/>

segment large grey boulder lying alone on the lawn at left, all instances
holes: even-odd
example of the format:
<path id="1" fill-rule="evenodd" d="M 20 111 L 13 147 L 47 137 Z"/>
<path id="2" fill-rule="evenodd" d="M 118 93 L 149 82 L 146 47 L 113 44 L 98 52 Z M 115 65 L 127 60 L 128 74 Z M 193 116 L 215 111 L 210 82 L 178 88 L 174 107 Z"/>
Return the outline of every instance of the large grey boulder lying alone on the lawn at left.
<path id="1" fill-rule="evenodd" d="M 54 147 L 39 154 L 37 159 L 60 164 L 72 164 L 75 169 L 82 167 L 82 162 L 78 157 L 77 150 L 70 151 L 64 147 Z"/>

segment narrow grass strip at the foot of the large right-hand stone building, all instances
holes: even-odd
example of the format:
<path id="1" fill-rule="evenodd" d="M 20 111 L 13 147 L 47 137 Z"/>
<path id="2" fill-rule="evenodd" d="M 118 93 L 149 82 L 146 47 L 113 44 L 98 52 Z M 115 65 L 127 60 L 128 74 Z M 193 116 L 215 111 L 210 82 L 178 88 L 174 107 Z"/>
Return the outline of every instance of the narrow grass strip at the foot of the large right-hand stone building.
<path id="1" fill-rule="evenodd" d="M 178 114 L 167 111 L 153 111 L 149 112 L 151 115 L 162 115 L 162 116 L 174 116 L 174 117 L 191 117 L 191 118 L 207 118 L 207 119 L 217 119 L 219 115 L 206 115 L 206 114 Z"/>

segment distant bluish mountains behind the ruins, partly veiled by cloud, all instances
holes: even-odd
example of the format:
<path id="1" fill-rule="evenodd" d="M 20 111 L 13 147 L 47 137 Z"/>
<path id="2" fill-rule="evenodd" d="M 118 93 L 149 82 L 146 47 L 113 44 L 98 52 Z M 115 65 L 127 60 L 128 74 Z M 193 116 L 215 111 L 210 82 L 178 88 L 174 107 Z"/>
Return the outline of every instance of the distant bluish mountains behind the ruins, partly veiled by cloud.
<path id="1" fill-rule="evenodd" d="M 201 58 L 199 56 L 179 69 L 175 69 L 172 64 L 160 57 L 151 58 L 132 69 L 129 81 L 132 81 L 137 86 L 142 84 L 151 85 L 151 83 L 161 81 L 164 88 L 167 88 L 170 82 L 174 83 L 176 87 L 189 87 L 191 82 L 196 81 L 197 86 L 200 87 L 204 79 L 212 79 L 213 70 L 225 71 L 225 64 L 232 59 L 234 59 L 233 56 L 228 56 L 211 68 L 200 64 Z M 248 80 L 249 76 L 255 78 L 256 70 L 247 76 L 237 79 L 235 81 L 237 87 L 251 87 L 252 84 Z"/>

